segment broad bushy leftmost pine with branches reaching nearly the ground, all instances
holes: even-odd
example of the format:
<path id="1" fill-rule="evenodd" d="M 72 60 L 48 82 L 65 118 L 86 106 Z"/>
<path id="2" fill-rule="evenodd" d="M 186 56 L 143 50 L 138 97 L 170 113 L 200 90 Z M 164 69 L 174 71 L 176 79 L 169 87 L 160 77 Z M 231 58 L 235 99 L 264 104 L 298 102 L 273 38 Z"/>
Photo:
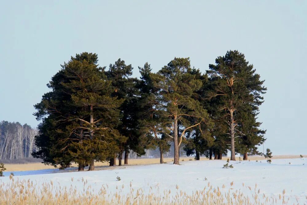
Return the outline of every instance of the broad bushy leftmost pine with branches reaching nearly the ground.
<path id="1" fill-rule="evenodd" d="M 125 140 L 114 129 L 122 101 L 111 97 L 111 81 L 97 61 L 92 53 L 72 57 L 50 81 L 52 92 L 35 105 L 43 122 L 34 156 L 46 164 L 65 168 L 76 162 L 79 170 L 85 164 L 94 170 L 94 160 L 106 160 L 118 149 L 115 140 Z"/>

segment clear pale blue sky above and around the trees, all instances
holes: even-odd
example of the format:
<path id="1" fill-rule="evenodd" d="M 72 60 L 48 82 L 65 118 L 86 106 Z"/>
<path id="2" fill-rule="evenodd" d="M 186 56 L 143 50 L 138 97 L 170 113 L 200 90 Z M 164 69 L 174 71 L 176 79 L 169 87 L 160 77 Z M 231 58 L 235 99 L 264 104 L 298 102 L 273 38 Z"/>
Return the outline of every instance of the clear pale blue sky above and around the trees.
<path id="1" fill-rule="evenodd" d="M 33 104 L 70 56 L 118 58 L 134 76 L 190 57 L 205 72 L 227 50 L 254 64 L 268 91 L 259 120 L 273 154 L 307 154 L 306 1 L 2 1 L 0 120 L 37 126 Z M 262 149 L 261 149 L 262 150 Z"/>

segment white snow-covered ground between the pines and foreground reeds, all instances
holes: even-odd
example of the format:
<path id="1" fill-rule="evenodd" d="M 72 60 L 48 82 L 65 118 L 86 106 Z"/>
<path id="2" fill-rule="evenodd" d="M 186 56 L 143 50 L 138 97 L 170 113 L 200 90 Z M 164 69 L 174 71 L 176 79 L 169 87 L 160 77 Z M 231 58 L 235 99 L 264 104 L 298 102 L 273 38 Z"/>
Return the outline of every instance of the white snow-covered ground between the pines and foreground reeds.
<path id="1" fill-rule="evenodd" d="M 149 191 L 150 187 L 158 185 L 162 191 L 175 192 L 177 186 L 179 190 L 191 194 L 193 191 L 202 190 L 210 182 L 213 187 L 221 188 L 224 184 L 226 189 L 233 188 L 233 190 L 246 191 L 250 194 L 251 191 L 247 187 L 254 190 L 257 184 L 257 191 L 260 189 L 260 194 L 277 196 L 285 189 L 286 195 L 292 196 L 293 200 L 298 197 L 300 202 L 307 202 L 305 198 L 307 196 L 307 158 L 272 160 L 272 164 L 268 164 L 266 160 L 230 162 L 229 164 L 234 166 L 233 169 L 222 168 L 225 163 L 224 160 L 204 160 L 181 161 L 181 165 L 122 166 L 100 171 L 59 172 L 55 169 L 19 171 L 14 172 L 14 179 L 30 179 L 37 183 L 52 180 L 54 184 L 60 184 L 62 187 L 72 185 L 80 190 L 84 186 L 91 185 L 91 189 L 97 190 L 97 193 L 102 185 L 108 185 L 109 191 L 116 191 L 117 186 L 124 185 L 127 188 L 123 191 L 129 192 L 131 182 L 135 189 L 142 188 Z M 4 172 L 4 174 L 6 176 L 1 177 L 0 182 L 10 180 L 10 172 Z M 121 178 L 120 181 L 117 181 L 117 176 Z M 86 185 L 82 178 L 87 180 Z M 231 182 L 233 182 L 232 186 Z"/>

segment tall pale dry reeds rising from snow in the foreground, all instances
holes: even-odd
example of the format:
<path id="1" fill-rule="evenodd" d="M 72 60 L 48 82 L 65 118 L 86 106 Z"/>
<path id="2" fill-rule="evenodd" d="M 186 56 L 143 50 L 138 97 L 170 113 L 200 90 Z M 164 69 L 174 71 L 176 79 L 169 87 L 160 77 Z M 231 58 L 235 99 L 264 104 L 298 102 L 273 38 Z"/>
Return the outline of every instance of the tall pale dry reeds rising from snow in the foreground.
<path id="1" fill-rule="evenodd" d="M 0 183 L 0 204 L 286 204 L 290 200 L 285 197 L 285 190 L 279 196 L 260 194 L 257 184 L 253 189 L 242 184 L 240 190 L 249 190 L 249 194 L 244 195 L 242 191 L 232 190 L 233 182 L 228 189 L 225 185 L 213 188 L 208 183 L 203 190 L 188 195 L 178 186 L 175 193 L 171 190 L 160 191 L 158 186 L 149 187 L 149 191 L 145 192 L 143 189 L 134 190 L 130 182 L 130 187 L 126 187 L 130 189 L 129 193 L 124 193 L 124 185 L 116 187 L 115 192 L 110 192 L 108 186 L 103 185 L 94 193 L 84 179 L 82 191 L 77 191 L 73 183 L 70 187 L 61 187 L 52 181 L 38 185 L 30 180 L 10 179 L 7 183 Z M 298 203 L 299 199 L 296 201 Z"/>

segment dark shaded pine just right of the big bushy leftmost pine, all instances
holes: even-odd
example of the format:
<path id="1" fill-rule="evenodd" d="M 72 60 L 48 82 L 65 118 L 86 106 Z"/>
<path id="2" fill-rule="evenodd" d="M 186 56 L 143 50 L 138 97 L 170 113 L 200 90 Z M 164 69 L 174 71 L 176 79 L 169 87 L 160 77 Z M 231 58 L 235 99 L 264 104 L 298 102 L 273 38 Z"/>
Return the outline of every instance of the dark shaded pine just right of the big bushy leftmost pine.
<path id="1" fill-rule="evenodd" d="M 120 121 L 121 124 L 117 126 L 119 133 L 126 137 L 125 142 L 119 142 L 119 166 L 122 165 L 122 155 L 125 151 L 125 164 L 128 164 L 129 150 L 133 150 L 139 156 L 145 154 L 142 139 L 137 133 L 138 118 L 137 118 L 137 104 L 139 92 L 137 89 L 138 79 L 131 77 L 133 67 L 126 65 L 125 61 L 118 59 L 115 64 L 110 64 L 109 70 L 106 71 L 108 79 L 112 82 L 114 89 L 113 96 L 123 100 L 120 106 Z M 110 159 L 113 160 L 114 158 Z M 114 164 L 110 163 L 110 164 Z"/>

